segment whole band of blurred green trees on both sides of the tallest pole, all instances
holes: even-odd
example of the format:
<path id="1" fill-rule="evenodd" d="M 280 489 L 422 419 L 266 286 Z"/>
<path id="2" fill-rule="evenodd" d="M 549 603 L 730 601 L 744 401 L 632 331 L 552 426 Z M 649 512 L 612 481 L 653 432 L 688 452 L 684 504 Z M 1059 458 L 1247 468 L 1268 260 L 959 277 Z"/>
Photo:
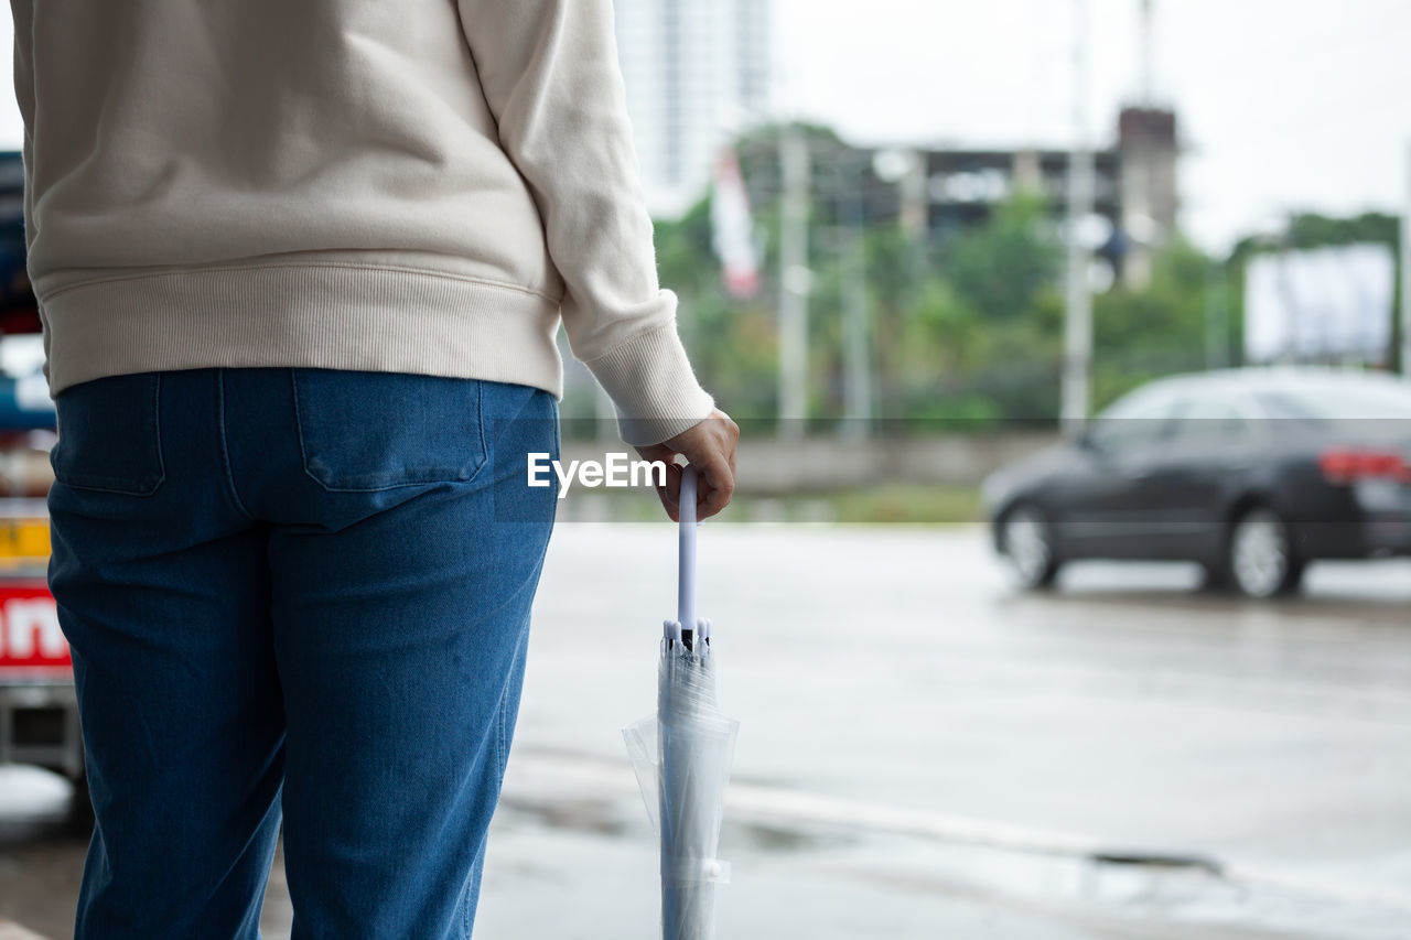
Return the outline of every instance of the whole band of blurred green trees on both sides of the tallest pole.
<path id="1" fill-rule="evenodd" d="M 818 147 L 837 143 L 825 128 L 810 133 Z M 753 159 L 759 164 L 758 150 Z M 708 195 L 682 219 L 656 223 L 662 284 L 680 296 L 680 329 L 697 373 L 753 428 L 769 426 L 779 394 L 777 179 L 765 182 L 769 198 L 753 206 L 762 278 L 752 299 L 735 299 L 721 284 Z M 831 429 L 844 414 L 844 311 L 858 239 L 880 433 L 1057 421 L 1064 320 L 1057 207 L 1019 193 L 959 234 L 917 241 L 895 219 L 849 229 L 849 196 L 828 192 L 816 185 L 809 230 L 811 429 Z M 1287 237 L 1273 246 L 1249 239 L 1223 261 L 1174 239 L 1154 255 L 1144 289 L 1119 281 L 1094 298 L 1094 408 L 1160 375 L 1237 366 L 1243 267 L 1253 254 L 1395 240 L 1397 219 L 1376 213 L 1295 216 Z"/>

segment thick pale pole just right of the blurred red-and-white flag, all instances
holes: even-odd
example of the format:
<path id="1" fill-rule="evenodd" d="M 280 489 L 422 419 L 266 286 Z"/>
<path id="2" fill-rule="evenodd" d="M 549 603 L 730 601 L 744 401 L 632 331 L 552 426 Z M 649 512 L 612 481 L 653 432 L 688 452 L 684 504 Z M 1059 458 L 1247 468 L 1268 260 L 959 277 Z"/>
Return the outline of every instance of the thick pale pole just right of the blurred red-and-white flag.
<path id="1" fill-rule="evenodd" d="M 779 239 L 779 436 L 803 438 L 809 408 L 809 140 L 790 123 L 779 134 L 783 213 Z"/>

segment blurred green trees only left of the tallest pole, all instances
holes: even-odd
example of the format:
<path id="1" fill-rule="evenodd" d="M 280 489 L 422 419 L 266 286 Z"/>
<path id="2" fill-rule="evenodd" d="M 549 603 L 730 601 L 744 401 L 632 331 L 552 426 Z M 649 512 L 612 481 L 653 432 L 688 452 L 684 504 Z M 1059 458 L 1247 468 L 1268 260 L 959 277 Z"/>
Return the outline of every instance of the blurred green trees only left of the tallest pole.
<path id="1" fill-rule="evenodd" d="M 883 428 L 1057 415 L 1062 250 L 1046 212 L 1040 199 L 1019 196 L 943 247 L 914 244 L 895 222 L 862 230 L 873 405 Z M 721 284 L 708 196 L 682 219 L 656 223 L 656 244 L 698 374 L 732 415 L 765 419 L 777 402 L 777 206 L 756 209 L 755 223 L 763 277 L 749 301 Z M 824 426 L 844 411 L 852 243 L 816 222 L 809 243 L 810 414 Z"/>

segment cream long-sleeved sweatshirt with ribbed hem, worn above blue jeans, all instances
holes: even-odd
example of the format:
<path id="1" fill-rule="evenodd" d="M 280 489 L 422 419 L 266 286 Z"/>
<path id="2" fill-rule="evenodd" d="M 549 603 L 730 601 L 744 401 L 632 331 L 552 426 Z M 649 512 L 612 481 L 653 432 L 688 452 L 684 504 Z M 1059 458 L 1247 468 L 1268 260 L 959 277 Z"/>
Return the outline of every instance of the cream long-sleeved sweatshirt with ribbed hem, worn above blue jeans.
<path id="1" fill-rule="evenodd" d="M 52 395 L 305 366 L 713 406 L 660 288 L 611 0 L 11 0 Z"/>

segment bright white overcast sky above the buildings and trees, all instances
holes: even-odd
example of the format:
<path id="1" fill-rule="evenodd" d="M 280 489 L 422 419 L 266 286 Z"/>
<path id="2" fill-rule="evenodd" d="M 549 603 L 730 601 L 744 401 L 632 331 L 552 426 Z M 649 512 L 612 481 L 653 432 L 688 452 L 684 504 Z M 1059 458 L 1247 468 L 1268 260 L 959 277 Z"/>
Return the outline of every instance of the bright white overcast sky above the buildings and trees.
<path id="1" fill-rule="evenodd" d="M 708 3 L 710 0 L 700 0 Z M 1139 0 L 1086 0 L 1089 126 L 1137 89 Z M 777 100 L 855 143 L 1065 145 L 1075 0 L 775 0 Z M 1184 223 L 1225 247 L 1291 209 L 1400 212 L 1411 1 L 1156 0 L 1157 86 L 1187 145 Z M 20 144 L 0 16 L 0 147 Z"/>

